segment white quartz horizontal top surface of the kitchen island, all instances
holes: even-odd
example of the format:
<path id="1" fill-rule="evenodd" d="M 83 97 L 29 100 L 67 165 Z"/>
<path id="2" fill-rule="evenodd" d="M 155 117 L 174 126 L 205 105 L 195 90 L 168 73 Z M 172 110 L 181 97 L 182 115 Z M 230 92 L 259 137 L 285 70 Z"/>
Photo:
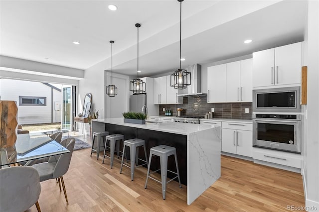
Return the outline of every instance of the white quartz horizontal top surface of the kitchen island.
<path id="1" fill-rule="evenodd" d="M 133 124 L 125 123 L 124 118 L 104 118 L 104 119 L 94 119 L 93 121 L 117 124 L 122 126 L 136 127 L 141 129 L 149 129 L 161 132 L 169 132 L 181 135 L 189 135 L 191 133 L 208 130 L 210 128 L 215 128 L 219 126 L 210 126 L 203 124 L 186 124 L 186 123 L 177 123 L 177 122 L 165 122 L 165 123 L 151 123 L 146 122 L 146 124 Z"/>

